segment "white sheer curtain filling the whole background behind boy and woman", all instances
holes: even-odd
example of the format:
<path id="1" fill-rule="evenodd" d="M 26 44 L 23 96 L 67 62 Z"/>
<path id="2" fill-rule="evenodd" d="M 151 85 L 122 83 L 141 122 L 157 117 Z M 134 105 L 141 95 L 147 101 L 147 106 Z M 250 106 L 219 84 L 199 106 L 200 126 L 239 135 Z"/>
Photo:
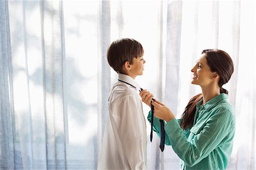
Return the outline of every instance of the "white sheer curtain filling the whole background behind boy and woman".
<path id="1" fill-rule="evenodd" d="M 255 20 L 254 1 L 0 1 L 0 169 L 96 169 L 117 78 L 106 50 L 119 38 L 142 43 L 137 81 L 177 118 L 200 93 L 190 70 L 201 51 L 228 52 L 228 169 L 255 169 Z M 147 168 L 179 169 L 149 123 L 147 134 Z"/>

